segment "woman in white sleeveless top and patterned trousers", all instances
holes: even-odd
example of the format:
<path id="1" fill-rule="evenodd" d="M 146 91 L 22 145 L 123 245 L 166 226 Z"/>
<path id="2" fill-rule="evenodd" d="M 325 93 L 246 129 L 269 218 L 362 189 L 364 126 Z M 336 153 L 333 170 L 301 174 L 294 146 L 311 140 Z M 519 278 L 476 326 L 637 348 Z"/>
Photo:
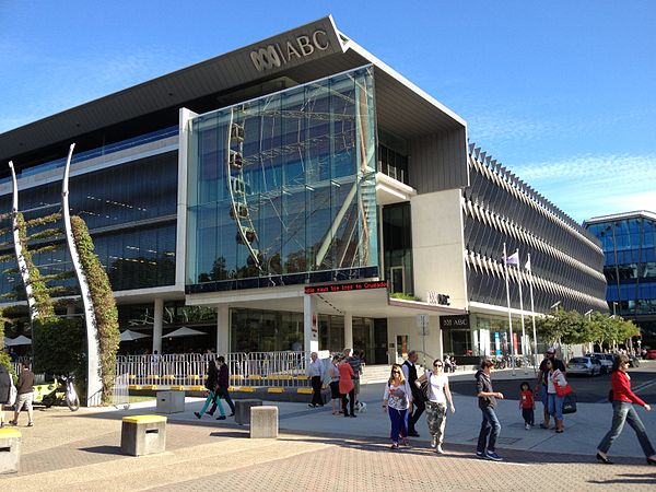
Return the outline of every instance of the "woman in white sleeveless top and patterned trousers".
<path id="1" fill-rule="evenodd" d="M 452 413 L 456 412 L 454 400 L 448 387 L 448 376 L 444 374 L 444 364 L 440 359 L 433 361 L 433 373 L 430 376 L 429 384 L 430 399 L 426 401 L 426 421 L 429 423 L 429 432 L 433 436 L 431 447 L 435 448 L 436 453 L 442 454 L 442 443 L 444 442 L 444 427 L 446 426 L 446 402 Z M 419 388 L 426 380 L 426 374 L 418 377 L 414 384 Z"/>

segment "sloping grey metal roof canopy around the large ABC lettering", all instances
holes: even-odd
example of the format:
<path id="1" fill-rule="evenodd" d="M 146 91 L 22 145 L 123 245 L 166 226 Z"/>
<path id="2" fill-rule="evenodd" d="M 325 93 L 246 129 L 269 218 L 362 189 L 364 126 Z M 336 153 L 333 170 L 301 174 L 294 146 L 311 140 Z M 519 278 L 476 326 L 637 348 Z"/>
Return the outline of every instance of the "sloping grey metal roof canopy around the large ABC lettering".
<path id="1" fill-rule="evenodd" d="M 251 52 L 288 46 L 323 31 L 312 54 L 258 70 Z M 297 45 L 296 50 L 300 48 Z M 289 49 L 289 48 L 288 48 Z M 105 127 L 133 121 L 152 113 L 175 110 L 202 97 L 288 77 L 298 84 L 363 65 L 375 67 L 378 126 L 402 138 L 465 129 L 458 115 L 414 86 L 384 62 L 337 31 L 326 16 L 268 39 L 230 51 L 176 72 L 119 91 L 0 134 L 0 161 L 16 159 L 48 145 L 67 143 Z M 191 107 L 194 109 L 194 107 Z"/>

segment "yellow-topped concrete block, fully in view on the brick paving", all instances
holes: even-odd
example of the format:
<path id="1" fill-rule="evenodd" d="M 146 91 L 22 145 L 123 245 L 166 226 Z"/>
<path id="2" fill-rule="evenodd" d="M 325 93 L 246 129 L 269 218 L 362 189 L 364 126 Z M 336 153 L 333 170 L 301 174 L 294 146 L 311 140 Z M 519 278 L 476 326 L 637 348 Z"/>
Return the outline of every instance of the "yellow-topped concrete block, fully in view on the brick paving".
<path id="1" fill-rule="evenodd" d="M 130 456 L 164 453 L 166 449 L 166 417 L 124 417 L 120 450 Z"/>

